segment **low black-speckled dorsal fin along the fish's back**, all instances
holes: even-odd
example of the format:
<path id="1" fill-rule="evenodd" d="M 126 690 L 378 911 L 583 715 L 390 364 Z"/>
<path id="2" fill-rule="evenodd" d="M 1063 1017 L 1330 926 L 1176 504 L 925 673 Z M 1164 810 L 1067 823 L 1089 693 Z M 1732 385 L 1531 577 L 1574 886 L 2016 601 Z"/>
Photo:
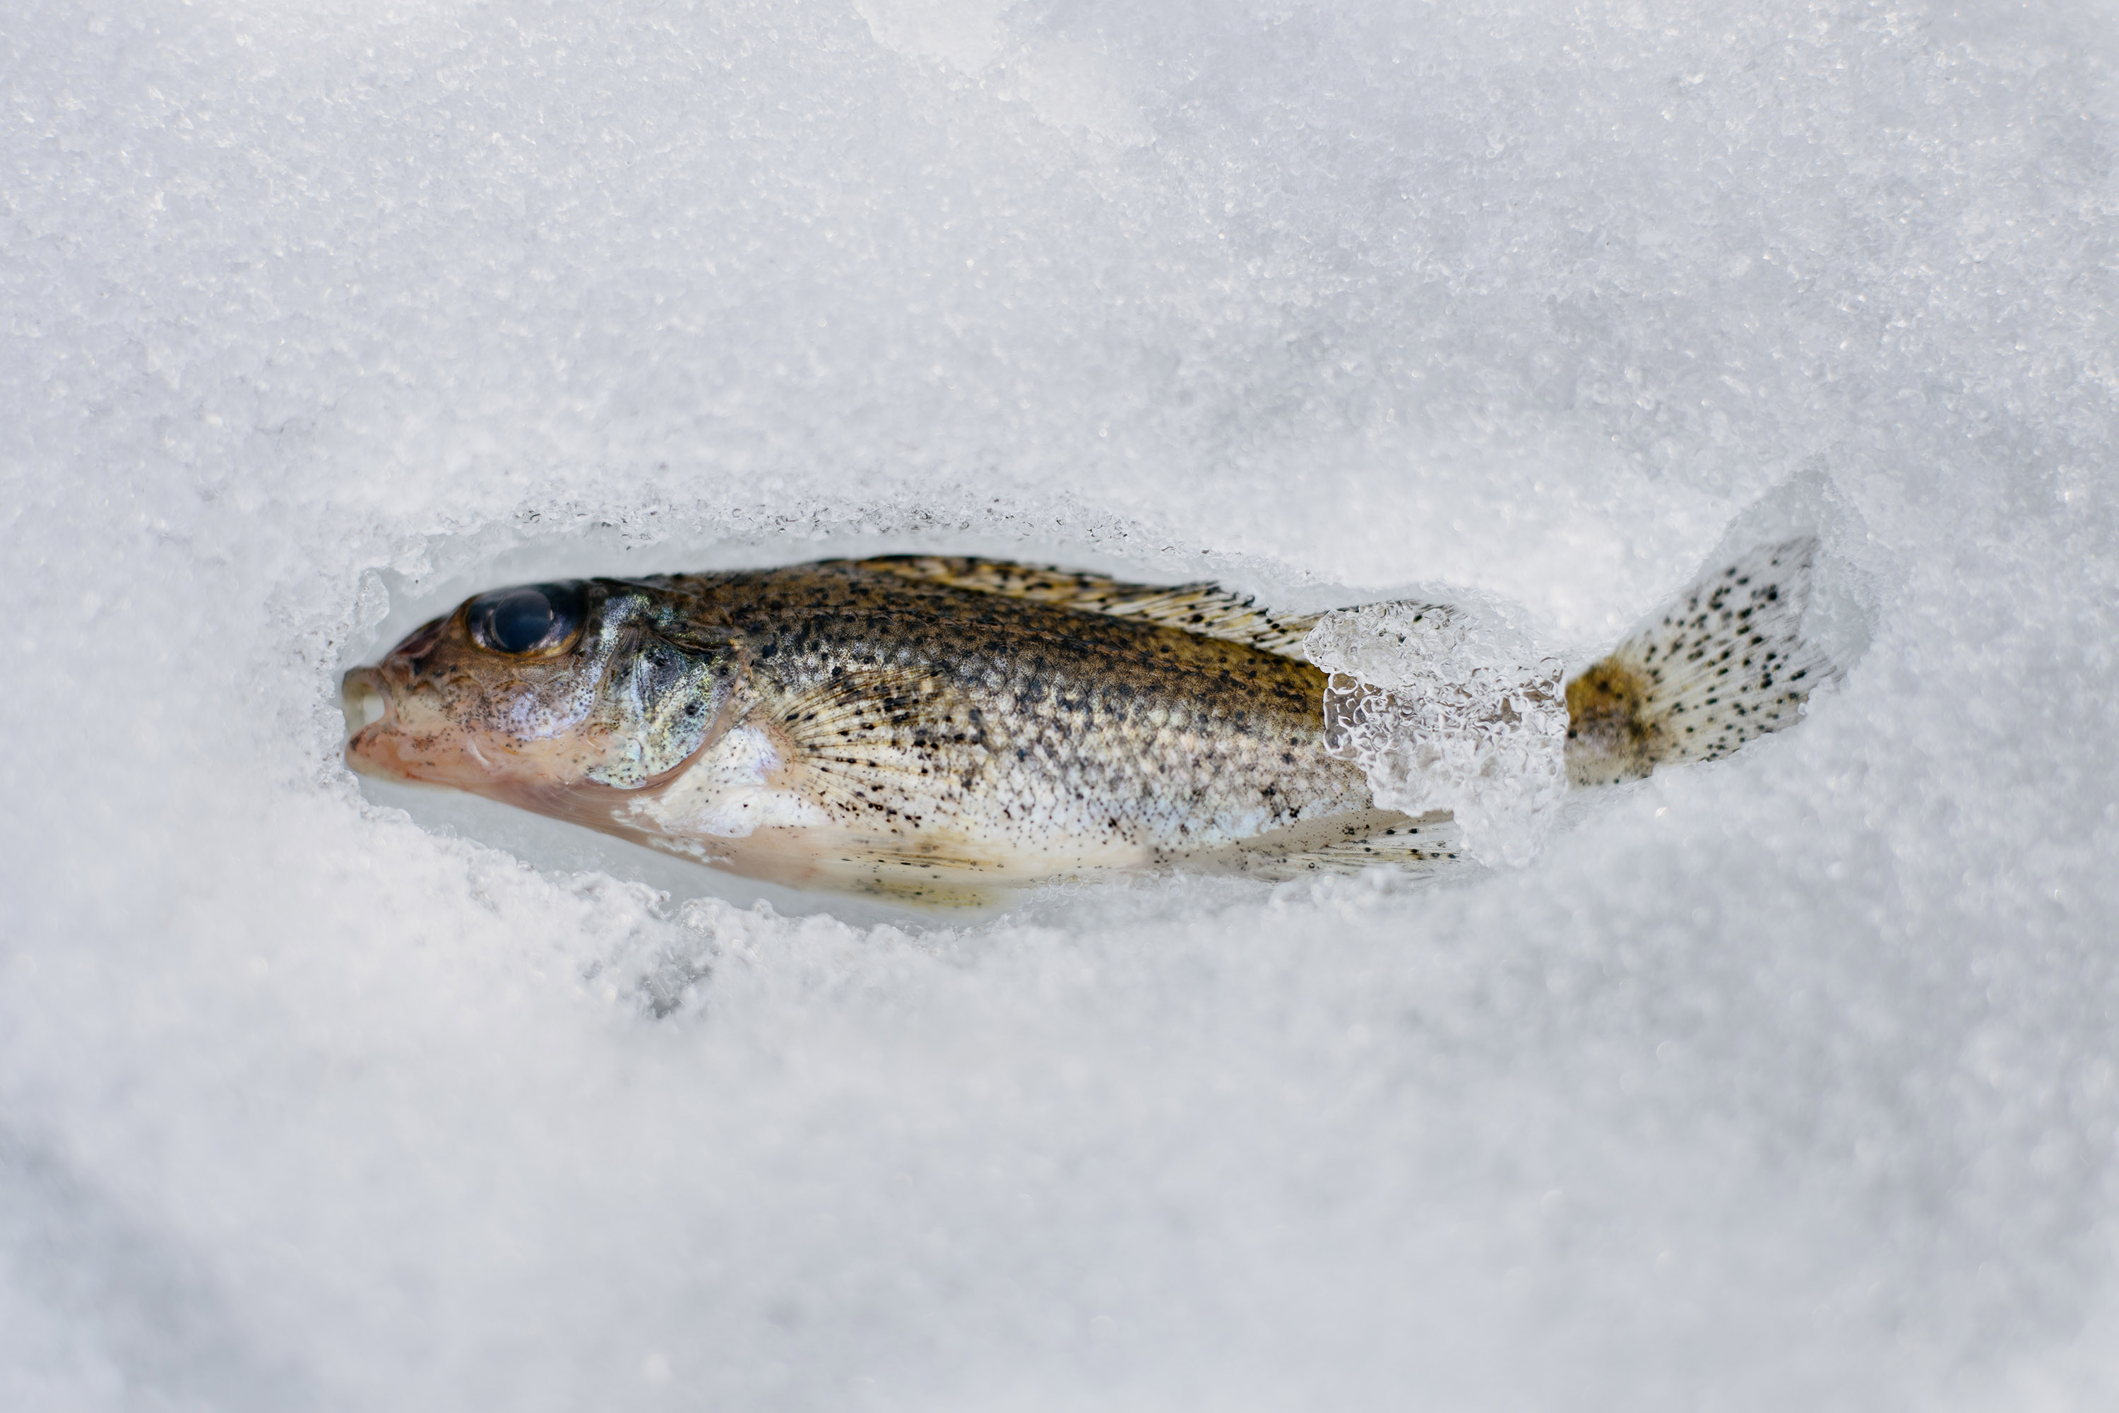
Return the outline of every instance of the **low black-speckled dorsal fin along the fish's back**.
<path id="1" fill-rule="evenodd" d="M 1261 652 L 1301 661 L 1303 638 L 1324 614 L 1276 614 L 1221 585 L 1127 585 L 1104 574 L 1076 574 L 1004 559 L 954 555 L 886 555 L 856 561 L 862 570 L 926 583 L 998 593 L 1013 600 L 1060 604 L 1112 619 L 1140 619 L 1161 627 L 1240 642 Z"/>

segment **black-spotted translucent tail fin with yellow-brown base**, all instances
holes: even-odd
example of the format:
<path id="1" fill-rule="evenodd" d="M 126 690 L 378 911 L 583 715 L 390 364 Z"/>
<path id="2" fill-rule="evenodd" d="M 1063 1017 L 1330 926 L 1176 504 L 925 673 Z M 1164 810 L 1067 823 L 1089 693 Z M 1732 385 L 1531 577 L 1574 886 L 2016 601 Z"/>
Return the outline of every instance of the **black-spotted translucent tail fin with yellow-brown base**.
<path id="1" fill-rule="evenodd" d="M 1568 682 L 1568 780 L 1640 780 L 1795 725 L 1831 661 L 1801 638 L 1816 540 L 1704 574 L 1661 621 Z"/>

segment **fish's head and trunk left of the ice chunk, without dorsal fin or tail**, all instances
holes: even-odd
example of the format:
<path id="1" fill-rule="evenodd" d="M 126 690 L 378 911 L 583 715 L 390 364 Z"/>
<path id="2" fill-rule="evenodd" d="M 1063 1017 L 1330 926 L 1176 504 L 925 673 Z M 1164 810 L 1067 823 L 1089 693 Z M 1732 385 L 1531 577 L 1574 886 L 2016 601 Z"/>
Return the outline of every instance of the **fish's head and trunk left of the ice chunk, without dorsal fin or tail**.
<path id="1" fill-rule="evenodd" d="M 384 716 L 348 754 L 744 875 L 907 898 L 1242 869 L 1379 824 L 1324 748 L 1316 667 L 894 564 L 542 587 L 581 621 L 523 655 L 481 646 L 473 600 L 354 674 Z"/>

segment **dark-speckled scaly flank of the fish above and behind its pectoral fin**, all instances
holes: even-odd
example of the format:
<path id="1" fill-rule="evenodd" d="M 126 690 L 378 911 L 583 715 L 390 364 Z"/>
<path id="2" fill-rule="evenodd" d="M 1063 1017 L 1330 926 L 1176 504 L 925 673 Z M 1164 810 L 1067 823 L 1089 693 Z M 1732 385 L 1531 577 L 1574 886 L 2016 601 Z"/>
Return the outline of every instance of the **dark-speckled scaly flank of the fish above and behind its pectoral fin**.
<path id="1" fill-rule="evenodd" d="M 756 644 L 763 697 L 894 667 L 962 699 L 983 754 L 960 807 L 996 830 L 1030 818 L 1055 839 L 1168 854 L 1367 807 L 1358 767 L 1324 754 L 1324 676 L 1301 661 L 854 564 L 646 583 L 693 625 Z"/>

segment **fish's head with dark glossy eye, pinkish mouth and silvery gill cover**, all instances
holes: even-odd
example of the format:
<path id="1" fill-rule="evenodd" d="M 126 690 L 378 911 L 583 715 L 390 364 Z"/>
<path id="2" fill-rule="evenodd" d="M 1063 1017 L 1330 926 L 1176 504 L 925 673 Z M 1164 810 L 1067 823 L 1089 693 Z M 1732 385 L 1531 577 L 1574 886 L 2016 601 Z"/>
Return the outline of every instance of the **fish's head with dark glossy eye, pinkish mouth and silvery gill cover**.
<path id="1" fill-rule="evenodd" d="M 727 729 L 733 640 L 653 585 L 479 593 L 345 674 L 345 761 L 583 822 Z"/>

